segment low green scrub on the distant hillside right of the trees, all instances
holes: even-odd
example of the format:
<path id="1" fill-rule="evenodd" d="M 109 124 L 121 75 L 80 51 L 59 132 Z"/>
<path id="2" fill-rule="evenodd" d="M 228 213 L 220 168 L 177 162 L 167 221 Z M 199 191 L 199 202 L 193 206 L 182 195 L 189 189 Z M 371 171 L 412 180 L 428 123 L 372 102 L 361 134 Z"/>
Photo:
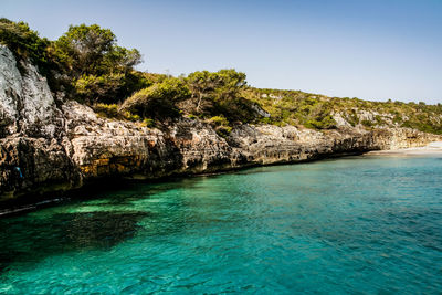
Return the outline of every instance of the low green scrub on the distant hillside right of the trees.
<path id="1" fill-rule="evenodd" d="M 359 98 L 327 97 L 301 91 L 259 89 L 249 87 L 242 96 L 261 105 L 271 114 L 271 118 L 261 122 L 275 125 L 303 125 L 315 129 L 329 129 L 336 126 L 334 114 L 347 120 L 351 126 L 361 125 L 409 127 L 418 130 L 442 134 L 442 106 L 424 103 L 370 102 Z M 362 113 L 372 114 L 367 119 Z"/>

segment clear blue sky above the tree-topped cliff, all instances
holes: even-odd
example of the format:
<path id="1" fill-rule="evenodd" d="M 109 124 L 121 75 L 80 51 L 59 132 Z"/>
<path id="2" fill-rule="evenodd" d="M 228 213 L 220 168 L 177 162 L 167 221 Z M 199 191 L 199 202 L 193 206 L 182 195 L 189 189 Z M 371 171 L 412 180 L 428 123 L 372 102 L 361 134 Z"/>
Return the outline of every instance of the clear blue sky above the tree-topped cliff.
<path id="1" fill-rule="evenodd" d="M 98 23 L 149 72 L 234 67 L 257 87 L 442 103 L 442 0 L 0 0 L 0 17 L 49 39 Z"/>

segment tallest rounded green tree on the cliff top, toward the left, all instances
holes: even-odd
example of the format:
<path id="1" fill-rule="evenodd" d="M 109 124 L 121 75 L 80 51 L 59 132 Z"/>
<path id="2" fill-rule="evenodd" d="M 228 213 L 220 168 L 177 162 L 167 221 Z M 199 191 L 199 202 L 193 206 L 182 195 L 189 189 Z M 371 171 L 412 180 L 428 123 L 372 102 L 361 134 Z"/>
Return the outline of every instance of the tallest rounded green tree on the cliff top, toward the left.
<path id="1" fill-rule="evenodd" d="M 118 46 L 114 33 L 97 24 L 71 25 L 51 51 L 81 102 L 115 103 L 148 85 L 133 71 L 140 53 Z"/>

